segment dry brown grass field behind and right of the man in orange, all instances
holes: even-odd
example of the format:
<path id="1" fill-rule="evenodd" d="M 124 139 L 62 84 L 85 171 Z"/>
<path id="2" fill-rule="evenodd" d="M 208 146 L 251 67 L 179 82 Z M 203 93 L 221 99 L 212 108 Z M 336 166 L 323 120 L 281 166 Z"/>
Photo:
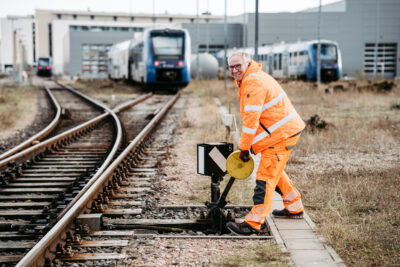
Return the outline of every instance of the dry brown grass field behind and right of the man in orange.
<path id="1" fill-rule="evenodd" d="M 304 120 L 318 114 L 334 125 L 329 130 L 306 131 L 286 170 L 302 192 L 306 210 L 319 231 L 347 265 L 397 266 L 399 83 L 389 93 L 367 90 L 373 83 L 366 81 L 341 84 L 347 90 L 333 94 L 325 93 L 328 85 L 282 84 Z M 238 114 L 237 90 L 232 82 L 228 90 L 222 89 L 221 81 L 209 81 L 201 87 L 206 92 L 195 93 L 205 99 L 218 96 Z"/>

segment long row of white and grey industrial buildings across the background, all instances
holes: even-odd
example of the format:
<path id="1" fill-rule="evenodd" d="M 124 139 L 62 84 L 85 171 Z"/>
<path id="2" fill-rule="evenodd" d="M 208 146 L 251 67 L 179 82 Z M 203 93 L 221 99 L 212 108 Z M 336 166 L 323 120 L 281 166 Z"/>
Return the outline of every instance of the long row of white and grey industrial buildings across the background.
<path id="1" fill-rule="evenodd" d="M 324 5 L 321 11 L 260 13 L 259 46 L 319 36 L 339 43 L 345 75 L 400 75 L 400 1 L 343 0 Z M 36 10 L 34 18 L 1 20 L 0 70 L 24 57 L 31 65 L 39 56 L 51 56 L 56 74 L 102 78 L 106 75 L 105 53 L 113 43 L 161 25 L 187 28 L 193 52 L 223 49 L 223 16 L 204 13 L 196 22 L 193 15 Z M 254 46 L 255 13 L 228 17 L 227 33 L 228 48 Z M 16 44 L 23 45 L 23 50 Z M 25 52 L 13 58 L 14 47 Z"/>

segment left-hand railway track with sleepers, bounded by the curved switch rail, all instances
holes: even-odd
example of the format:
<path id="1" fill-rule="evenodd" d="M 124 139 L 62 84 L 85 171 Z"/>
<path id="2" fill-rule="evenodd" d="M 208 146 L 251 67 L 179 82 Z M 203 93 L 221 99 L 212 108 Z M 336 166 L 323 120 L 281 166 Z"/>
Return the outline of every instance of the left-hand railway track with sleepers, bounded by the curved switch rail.
<path id="1" fill-rule="evenodd" d="M 120 112 L 147 97 L 115 110 Z M 77 106 L 76 100 L 72 102 Z M 122 141 L 120 122 L 108 108 L 99 105 L 97 109 L 106 113 L 0 161 L 1 262 L 15 261 L 33 247 L 116 155 Z M 80 118 L 99 113 L 85 110 L 86 118 L 84 112 Z M 71 126 L 76 124 L 75 120 Z"/>

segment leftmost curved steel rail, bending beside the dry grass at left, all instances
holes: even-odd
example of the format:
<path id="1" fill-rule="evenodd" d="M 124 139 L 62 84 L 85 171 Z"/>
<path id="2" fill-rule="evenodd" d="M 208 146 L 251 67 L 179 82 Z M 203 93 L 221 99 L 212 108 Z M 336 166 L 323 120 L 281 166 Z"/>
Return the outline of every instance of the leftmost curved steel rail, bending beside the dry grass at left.
<path id="1" fill-rule="evenodd" d="M 54 97 L 53 93 L 50 91 L 50 89 L 45 86 L 44 87 L 47 94 L 50 96 L 50 99 L 53 102 L 53 105 L 55 106 L 57 112 L 56 115 L 54 116 L 54 119 L 49 123 L 49 125 L 46 126 L 46 128 L 44 128 L 43 130 L 41 130 L 39 133 L 33 135 L 31 138 L 25 140 L 24 142 L 22 142 L 21 144 L 11 148 L 10 150 L 6 151 L 5 153 L 0 155 L 0 161 L 10 157 L 12 155 L 14 155 L 15 153 L 29 147 L 32 146 L 32 142 L 33 141 L 40 141 L 43 138 L 45 138 L 58 124 L 58 122 L 60 121 L 60 115 L 61 115 L 61 106 L 60 104 L 57 102 L 57 99 Z"/>

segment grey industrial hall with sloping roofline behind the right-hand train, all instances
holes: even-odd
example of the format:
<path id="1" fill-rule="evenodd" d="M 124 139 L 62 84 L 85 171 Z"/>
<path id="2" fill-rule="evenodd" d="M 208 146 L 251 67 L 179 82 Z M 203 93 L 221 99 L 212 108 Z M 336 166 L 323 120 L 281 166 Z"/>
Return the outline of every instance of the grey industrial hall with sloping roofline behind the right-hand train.
<path id="1" fill-rule="evenodd" d="M 318 14 L 318 8 L 259 14 L 259 46 L 316 40 Z M 399 0 L 344 0 L 325 5 L 320 16 L 320 38 L 339 43 L 344 75 L 374 76 L 377 66 L 379 77 L 400 76 L 399 14 Z M 231 17 L 229 21 L 245 21 L 245 46 L 254 46 L 255 14 Z"/>

